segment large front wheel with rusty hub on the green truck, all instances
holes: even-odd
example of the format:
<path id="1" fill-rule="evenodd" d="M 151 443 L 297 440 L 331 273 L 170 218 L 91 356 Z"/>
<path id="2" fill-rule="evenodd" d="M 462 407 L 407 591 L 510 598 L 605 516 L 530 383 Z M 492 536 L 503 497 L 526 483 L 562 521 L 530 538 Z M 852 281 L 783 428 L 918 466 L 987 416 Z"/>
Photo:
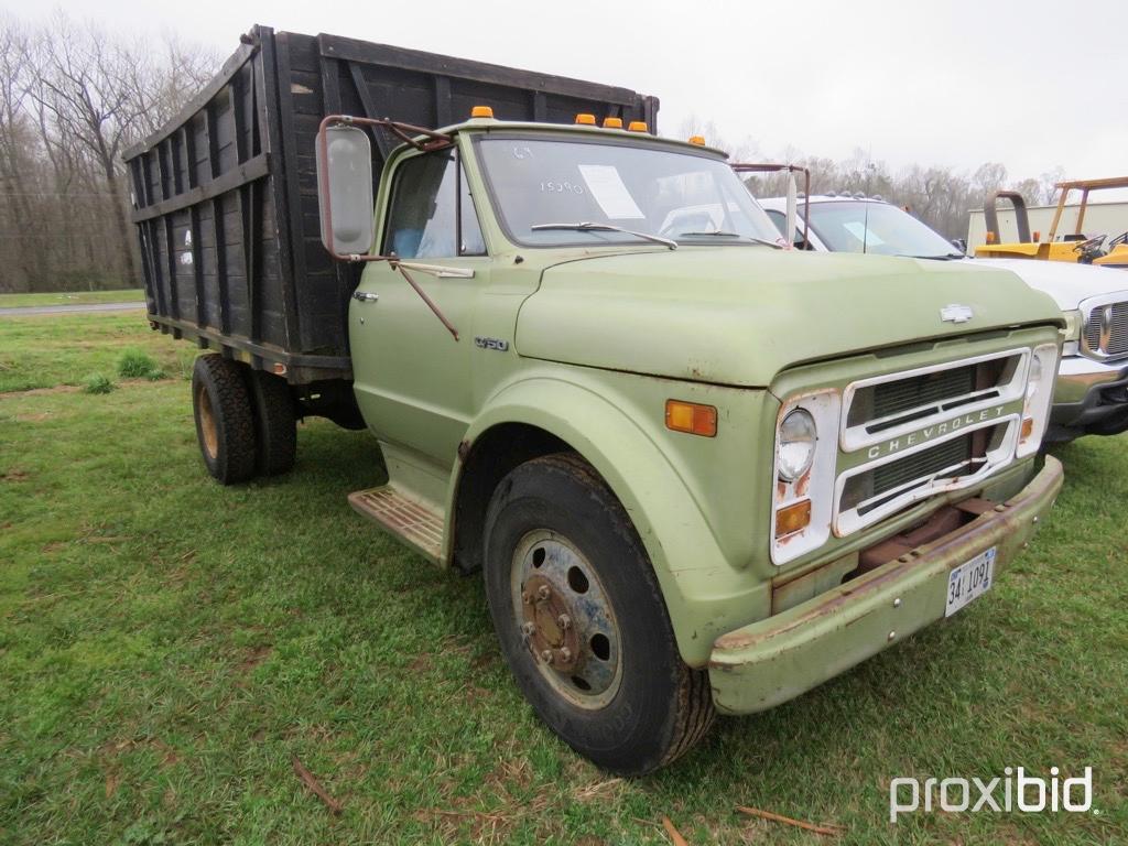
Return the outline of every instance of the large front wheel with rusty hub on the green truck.
<path id="1" fill-rule="evenodd" d="M 569 746 L 640 775 L 713 722 L 708 676 L 687 667 L 623 506 L 572 453 L 521 465 L 485 530 L 486 596 L 518 685 Z"/>

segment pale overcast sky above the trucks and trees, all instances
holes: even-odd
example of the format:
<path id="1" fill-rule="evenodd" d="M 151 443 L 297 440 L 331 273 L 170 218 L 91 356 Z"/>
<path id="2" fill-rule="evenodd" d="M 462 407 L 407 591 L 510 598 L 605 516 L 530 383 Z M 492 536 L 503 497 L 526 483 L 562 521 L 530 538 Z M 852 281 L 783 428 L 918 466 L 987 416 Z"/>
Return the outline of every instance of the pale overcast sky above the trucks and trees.
<path id="1" fill-rule="evenodd" d="M 1001 161 L 1013 179 L 1057 166 L 1072 178 L 1128 174 L 1123 0 L 55 6 L 140 38 L 171 30 L 224 58 L 261 23 L 624 86 L 661 99 L 662 134 L 711 121 L 766 158 L 861 148 L 893 169 Z M 33 14 L 27 2 L 0 8 Z"/>

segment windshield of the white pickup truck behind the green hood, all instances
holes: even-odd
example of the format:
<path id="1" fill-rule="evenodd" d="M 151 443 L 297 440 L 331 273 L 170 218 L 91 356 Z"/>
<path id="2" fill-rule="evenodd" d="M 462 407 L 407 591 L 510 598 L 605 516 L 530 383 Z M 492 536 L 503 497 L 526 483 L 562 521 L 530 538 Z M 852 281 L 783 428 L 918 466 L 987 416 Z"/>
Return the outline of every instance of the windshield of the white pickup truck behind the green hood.
<path id="1" fill-rule="evenodd" d="M 942 235 L 889 203 L 865 200 L 812 203 L 810 223 L 827 249 L 835 253 L 963 257 Z"/>

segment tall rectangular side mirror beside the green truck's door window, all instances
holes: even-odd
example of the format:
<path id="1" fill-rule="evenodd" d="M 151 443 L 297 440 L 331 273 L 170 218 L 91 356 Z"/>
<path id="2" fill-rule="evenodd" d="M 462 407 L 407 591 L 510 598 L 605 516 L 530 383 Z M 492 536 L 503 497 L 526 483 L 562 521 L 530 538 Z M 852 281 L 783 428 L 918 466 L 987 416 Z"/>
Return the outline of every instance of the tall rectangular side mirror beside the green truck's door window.
<path id="1" fill-rule="evenodd" d="M 372 144 L 359 126 L 324 126 L 317 139 L 321 244 L 334 255 L 372 248 Z"/>

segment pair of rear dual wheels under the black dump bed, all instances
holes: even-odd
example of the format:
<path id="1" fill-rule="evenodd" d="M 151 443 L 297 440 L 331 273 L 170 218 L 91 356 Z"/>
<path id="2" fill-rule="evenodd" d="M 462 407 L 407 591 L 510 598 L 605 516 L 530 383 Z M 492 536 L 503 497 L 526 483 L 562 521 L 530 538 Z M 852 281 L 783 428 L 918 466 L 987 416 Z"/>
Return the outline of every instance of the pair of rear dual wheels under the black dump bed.
<path id="1" fill-rule="evenodd" d="M 276 475 L 293 466 L 297 418 L 285 381 L 210 353 L 192 370 L 196 438 L 221 484 Z"/>

